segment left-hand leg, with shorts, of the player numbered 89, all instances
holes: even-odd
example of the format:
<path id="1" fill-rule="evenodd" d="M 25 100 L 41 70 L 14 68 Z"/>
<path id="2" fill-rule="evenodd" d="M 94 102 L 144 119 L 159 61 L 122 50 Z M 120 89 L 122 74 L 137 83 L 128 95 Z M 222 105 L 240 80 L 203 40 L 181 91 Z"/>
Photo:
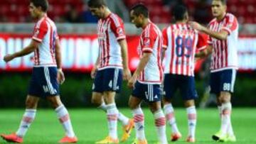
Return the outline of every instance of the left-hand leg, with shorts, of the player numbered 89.
<path id="1" fill-rule="evenodd" d="M 176 141 L 181 138 L 181 133 L 178 131 L 178 126 L 174 116 L 174 108 L 171 104 L 171 99 L 176 92 L 175 77 L 172 74 L 165 74 L 164 76 L 164 114 L 166 116 L 166 122 L 171 126 L 171 141 Z"/>

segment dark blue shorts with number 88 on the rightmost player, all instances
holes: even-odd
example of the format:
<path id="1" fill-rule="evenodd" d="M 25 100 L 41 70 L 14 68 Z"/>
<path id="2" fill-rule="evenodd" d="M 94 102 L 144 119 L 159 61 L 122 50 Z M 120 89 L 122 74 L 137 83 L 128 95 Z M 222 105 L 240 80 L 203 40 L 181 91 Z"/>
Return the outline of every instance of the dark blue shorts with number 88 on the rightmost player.
<path id="1" fill-rule="evenodd" d="M 210 73 L 210 93 L 220 94 L 220 92 L 234 92 L 235 77 L 237 70 L 221 70 Z"/>

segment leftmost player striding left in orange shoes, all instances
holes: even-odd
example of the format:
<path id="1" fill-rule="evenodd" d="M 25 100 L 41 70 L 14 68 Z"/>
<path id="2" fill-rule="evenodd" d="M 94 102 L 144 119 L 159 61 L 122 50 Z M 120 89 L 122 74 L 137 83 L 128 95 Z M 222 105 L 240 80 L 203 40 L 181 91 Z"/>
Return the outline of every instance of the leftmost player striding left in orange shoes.
<path id="1" fill-rule="evenodd" d="M 16 133 L 1 137 L 14 143 L 22 143 L 23 137 L 36 117 L 36 109 L 40 98 L 47 99 L 55 109 L 60 123 L 65 129 L 65 137 L 59 143 L 75 143 L 78 141 L 73 131 L 67 109 L 60 101 L 59 84 L 65 80 L 61 70 L 60 42 L 58 40 L 55 23 L 48 18 L 47 0 L 31 0 L 29 11 L 32 18 L 37 20 L 33 30 L 31 43 L 23 50 L 4 57 L 9 62 L 16 57 L 22 57 L 34 52 L 34 66 L 32 79 L 26 98 L 26 111 Z"/>

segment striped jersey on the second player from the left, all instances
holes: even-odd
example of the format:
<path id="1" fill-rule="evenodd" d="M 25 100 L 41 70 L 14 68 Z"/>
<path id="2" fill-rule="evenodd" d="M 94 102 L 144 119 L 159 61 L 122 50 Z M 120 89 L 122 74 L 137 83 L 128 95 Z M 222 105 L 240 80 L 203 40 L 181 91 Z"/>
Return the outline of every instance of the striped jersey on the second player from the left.
<path id="1" fill-rule="evenodd" d="M 119 16 L 111 13 L 98 21 L 98 42 L 100 46 L 100 68 L 122 68 L 122 53 L 118 40 L 124 40 L 124 23 Z"/>

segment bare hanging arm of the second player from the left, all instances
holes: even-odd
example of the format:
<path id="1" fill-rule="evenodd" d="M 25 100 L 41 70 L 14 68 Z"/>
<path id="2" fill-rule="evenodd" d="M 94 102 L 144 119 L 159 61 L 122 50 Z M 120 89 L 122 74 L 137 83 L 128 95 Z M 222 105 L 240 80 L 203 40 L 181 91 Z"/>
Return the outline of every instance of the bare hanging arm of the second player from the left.
<path id="1" fill-rule="evenodd" d="M 129 70 L 128 65 L 128 52 L 127 52 L 127 41 L 125 39 L 118 41 L 120 47 L 121 47 L 121 53 L 122 53 L 122 65 L 124 68 L 124 79 L 128 80 L 131 77 L 131 72 Z"/>

